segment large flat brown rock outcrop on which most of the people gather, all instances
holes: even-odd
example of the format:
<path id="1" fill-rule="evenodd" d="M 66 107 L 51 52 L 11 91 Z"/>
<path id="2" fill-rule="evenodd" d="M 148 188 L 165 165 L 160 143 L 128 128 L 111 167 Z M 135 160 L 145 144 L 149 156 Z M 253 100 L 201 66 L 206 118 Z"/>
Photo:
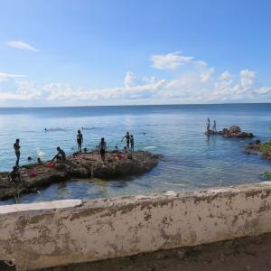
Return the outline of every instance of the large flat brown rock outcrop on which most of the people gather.
<path id="1" fill-rule="evenodd" d="M 160 158 L 159 154 L 135 152 L 132 155 L 106 154 L 105 164 L 97 152 L 74 154 L 65 162 L 53 167 L 48 164 L 30 164 L 20 168 L 22 182 L 9 181 L 8 173 L 0 173 L 0 200 L 14 197 L 18 193 L 31 193 L 54 182 L 69 181 L 71 178 L 99 178 L 104 180 L 127 179 L 150 171 Z"/>

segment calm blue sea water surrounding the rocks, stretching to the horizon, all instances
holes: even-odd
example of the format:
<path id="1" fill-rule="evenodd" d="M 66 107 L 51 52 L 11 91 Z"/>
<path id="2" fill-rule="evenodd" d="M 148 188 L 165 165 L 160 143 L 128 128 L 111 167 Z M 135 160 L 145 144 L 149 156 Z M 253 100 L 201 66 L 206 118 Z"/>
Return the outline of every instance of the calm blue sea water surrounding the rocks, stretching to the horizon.
<path id="1" fill-rule="evenodd" d="M 0 171 L 14 165 L 15 138 L 21 140 L 21 164 L 27 164 L 28 156 L 51 159 L 57 145 L 71 154 L 77 147 L 77 130 L 83 126 L 87 148 L 95 148 L 102 136 L 109 147 L 122 147 L 120 139 L 130 131 L 136 149 L 164 157 L 153 171 L 130 181 L 53 184 L 40 194 L 22 196 L 21 202 L 94 199 L 262 181 L 260 173 L 271 164 L 246 154 L 246 140 L 208 138 L 204 135 L 207 117 L 216 119 L 218 129 L 238 125 L 262 140 L 271 137 L 271 104 L 0 108 Z"/>

